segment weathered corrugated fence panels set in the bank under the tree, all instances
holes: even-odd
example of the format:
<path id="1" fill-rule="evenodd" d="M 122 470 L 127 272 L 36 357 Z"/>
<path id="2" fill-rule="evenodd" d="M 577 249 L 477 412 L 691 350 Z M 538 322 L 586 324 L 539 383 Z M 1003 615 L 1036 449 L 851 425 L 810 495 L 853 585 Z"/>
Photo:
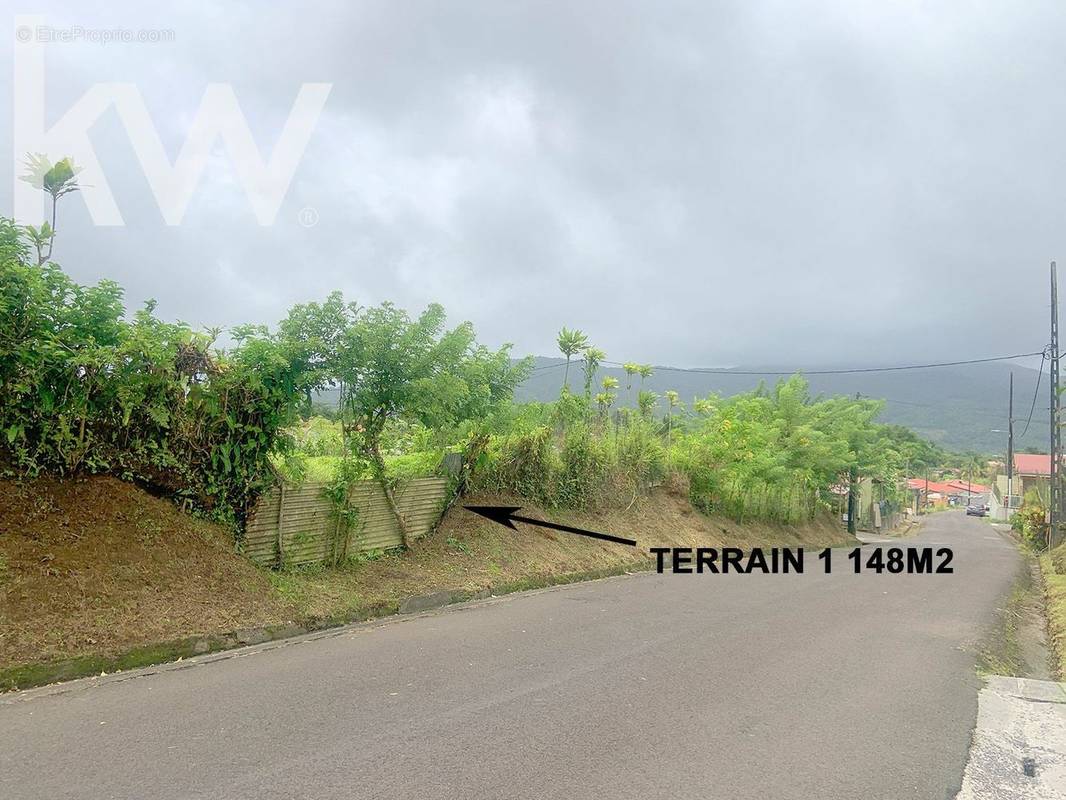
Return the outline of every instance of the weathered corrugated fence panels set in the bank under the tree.
<path id="1" fill-rule="evenodd" d="M 342 525 L 325 483 L 275 486 L 262 495 L 248 516 L 244 553 L 258 564 L 307 564 L 330 561 L 335 555 L 399 547 L 400 526 L 375 481 L 357 481 L 349 499 L 357 514 L 341 541 Z M 407 524 L 407 537 L 417 539 L 433 529 L 448 493 L 447 478 L 416 478 L 395 493 L 397 508 Z"/>

